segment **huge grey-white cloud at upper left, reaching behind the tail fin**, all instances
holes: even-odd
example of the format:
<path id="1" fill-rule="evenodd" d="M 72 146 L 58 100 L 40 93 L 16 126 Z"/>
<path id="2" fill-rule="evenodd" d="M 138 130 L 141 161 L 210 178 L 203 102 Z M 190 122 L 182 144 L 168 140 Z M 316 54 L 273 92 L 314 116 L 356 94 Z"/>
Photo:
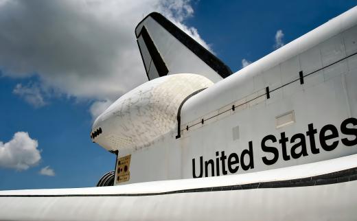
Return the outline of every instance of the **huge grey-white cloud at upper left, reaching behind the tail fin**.
<path id="1" fill-rule="evenodd" d="M 79 99 L 116 100 L 146 82 L 134 30 L 152 11 L 161 12 L 209 48 L 196 28 L 183 24 L 194 13 L 188 0 L 3 1 L 2 74 L 38 75 L 41 89 Z M 36 93 L 29 96 L 43 104 Z"/>

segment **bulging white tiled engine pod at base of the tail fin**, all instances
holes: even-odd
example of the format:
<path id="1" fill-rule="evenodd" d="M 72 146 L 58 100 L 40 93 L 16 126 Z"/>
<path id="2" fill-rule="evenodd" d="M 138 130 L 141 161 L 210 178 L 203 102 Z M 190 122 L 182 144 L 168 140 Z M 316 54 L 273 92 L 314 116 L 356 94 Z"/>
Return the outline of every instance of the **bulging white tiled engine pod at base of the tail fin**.
<path id="1" fill-rule="evenodd" d="M 97 117 L 93 142 L 108 151 L 138 150 L 174 130 L 177 111 L 187 96 L 213 82 L 202 75 L 179 73 L 137 86 Z"/>

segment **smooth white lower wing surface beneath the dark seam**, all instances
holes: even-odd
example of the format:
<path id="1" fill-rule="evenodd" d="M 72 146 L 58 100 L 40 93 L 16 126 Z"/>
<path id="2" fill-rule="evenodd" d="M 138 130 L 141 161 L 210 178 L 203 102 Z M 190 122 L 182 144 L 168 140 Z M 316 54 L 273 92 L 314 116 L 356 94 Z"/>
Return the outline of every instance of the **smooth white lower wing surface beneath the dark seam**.
<path id="1" fill-rule="evenodd" d="M 0 213 L 7 211 L 3 220 L 356 220 L 356 183 L 140 198 L 10 198 Z"/>

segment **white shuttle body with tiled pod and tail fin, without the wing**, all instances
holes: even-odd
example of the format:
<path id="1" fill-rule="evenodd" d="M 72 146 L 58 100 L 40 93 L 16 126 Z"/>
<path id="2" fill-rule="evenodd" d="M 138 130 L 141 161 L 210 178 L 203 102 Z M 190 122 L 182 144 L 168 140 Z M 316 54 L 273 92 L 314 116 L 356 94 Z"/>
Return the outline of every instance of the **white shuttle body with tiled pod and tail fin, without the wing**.
<path id="1" fill-rule="evenodd" d="M 229 76 L 220 60 L 205 60 L 157 14 L 143 19 L 136 34 L 144 64 L 154 65 L 145 66 L 150 81 L 109 107 L 92 131 L 101 128 L 93 141 L 117 151 L 117 161 L 130 156 L 126 178 L 116 170 L 116 185 L 243 174 L 357 154 L 356 9 Z M 178 73 L 189 67 L 172 64 L 198 58 L 195 74 Z M 161 69 L 168 75 L 161 76 Z M 220 71 L 212 77 L 214 69 Z"/>

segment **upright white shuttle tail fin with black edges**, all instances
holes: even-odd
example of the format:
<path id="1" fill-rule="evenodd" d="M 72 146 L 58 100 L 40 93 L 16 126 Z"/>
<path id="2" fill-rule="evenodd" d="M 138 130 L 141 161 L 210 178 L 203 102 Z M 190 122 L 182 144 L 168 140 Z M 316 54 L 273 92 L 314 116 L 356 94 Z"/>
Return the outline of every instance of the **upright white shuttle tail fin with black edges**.
<path id="1" fill-rule="evenodd" d="M 231 69 L 163 15 L 152 12 L 135 28 L 148 79 L 174 73 L 196 73 L 218 82 Z"/>

